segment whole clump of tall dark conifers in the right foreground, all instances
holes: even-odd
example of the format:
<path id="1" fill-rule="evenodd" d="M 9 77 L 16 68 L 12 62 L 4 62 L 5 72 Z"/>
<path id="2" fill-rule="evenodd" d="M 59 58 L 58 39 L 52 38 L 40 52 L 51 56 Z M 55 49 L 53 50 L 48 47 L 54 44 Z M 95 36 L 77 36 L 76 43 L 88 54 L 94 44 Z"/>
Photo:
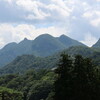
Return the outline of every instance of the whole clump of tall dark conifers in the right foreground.
<path id="1" fill-rule="evenodd" d="M 100 75 L 91 59 L 62 54 L 54 84 L 54 100 L 100 100 Z"/>

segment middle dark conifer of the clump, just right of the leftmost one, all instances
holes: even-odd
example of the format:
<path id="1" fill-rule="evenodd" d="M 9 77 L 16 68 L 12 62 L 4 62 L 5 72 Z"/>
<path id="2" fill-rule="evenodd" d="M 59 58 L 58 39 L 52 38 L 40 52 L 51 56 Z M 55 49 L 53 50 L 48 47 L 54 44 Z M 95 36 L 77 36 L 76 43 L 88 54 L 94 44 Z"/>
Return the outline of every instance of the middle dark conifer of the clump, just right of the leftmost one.
<path id="1" fill-rule="evenodd" d="M 72 100 L 85 100 L 84 89 L 86 88 L 87 77 L 83 57 L 77 55 L 73 65 Z"/>

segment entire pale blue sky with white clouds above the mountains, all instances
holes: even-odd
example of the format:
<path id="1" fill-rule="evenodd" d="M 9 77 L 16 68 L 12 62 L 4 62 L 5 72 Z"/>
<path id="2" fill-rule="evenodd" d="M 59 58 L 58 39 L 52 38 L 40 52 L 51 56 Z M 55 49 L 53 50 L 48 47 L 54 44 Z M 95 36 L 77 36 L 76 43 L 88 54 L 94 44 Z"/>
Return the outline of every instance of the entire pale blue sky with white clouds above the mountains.
<path id="1" fill-rule="evenodd" d="M 100 38 L 100 0 L 0 0 L 0 48 L 44 33 L 93 45 Z"/>

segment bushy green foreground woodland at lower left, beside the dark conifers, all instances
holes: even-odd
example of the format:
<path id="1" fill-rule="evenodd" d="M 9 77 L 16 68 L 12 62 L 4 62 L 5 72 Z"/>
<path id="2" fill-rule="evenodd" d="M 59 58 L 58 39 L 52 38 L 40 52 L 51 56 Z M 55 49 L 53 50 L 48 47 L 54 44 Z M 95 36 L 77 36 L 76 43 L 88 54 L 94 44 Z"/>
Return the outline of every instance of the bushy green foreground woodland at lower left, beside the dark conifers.
<path id="1" fill-rule="evenodd" d="M 31 69 L 23 75 L 10 74 L 1 76 L 0 86 L 5 88 L 0 88 L 0 92 L 4 93 L 4 91 L 7 91 L 8 94 L 12 94 L 12 97 L 17 95 L 17 93 L 13 90 L 20 91 L 18 93 L 22 93 L 17 96 L 22 97 L 20 99 L 10 99 L 10 95 L 7 94 L 8 99 L 4 100 L 46 100 L 53 89 L 55 77 L 56 75 L 54 72 L 45 69 L 38 71 Z"/>

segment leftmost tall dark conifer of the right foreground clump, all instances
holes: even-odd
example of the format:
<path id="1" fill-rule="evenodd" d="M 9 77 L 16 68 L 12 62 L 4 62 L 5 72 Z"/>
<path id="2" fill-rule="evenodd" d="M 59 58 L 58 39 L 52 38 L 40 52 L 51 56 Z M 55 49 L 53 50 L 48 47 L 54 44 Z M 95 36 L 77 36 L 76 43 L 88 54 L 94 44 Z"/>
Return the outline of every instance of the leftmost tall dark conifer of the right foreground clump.
<path id="1" fill-rule="evenodd" d="M 72 60 L 67 54 L 62 54 L 58 68 L 55 73 L 58 74 L 58 78 L 54 84 L 54 100 L 70 100 L 70 79 L 72 70 Z M 67 92 L 67 93 L 66 93 Z"/>

